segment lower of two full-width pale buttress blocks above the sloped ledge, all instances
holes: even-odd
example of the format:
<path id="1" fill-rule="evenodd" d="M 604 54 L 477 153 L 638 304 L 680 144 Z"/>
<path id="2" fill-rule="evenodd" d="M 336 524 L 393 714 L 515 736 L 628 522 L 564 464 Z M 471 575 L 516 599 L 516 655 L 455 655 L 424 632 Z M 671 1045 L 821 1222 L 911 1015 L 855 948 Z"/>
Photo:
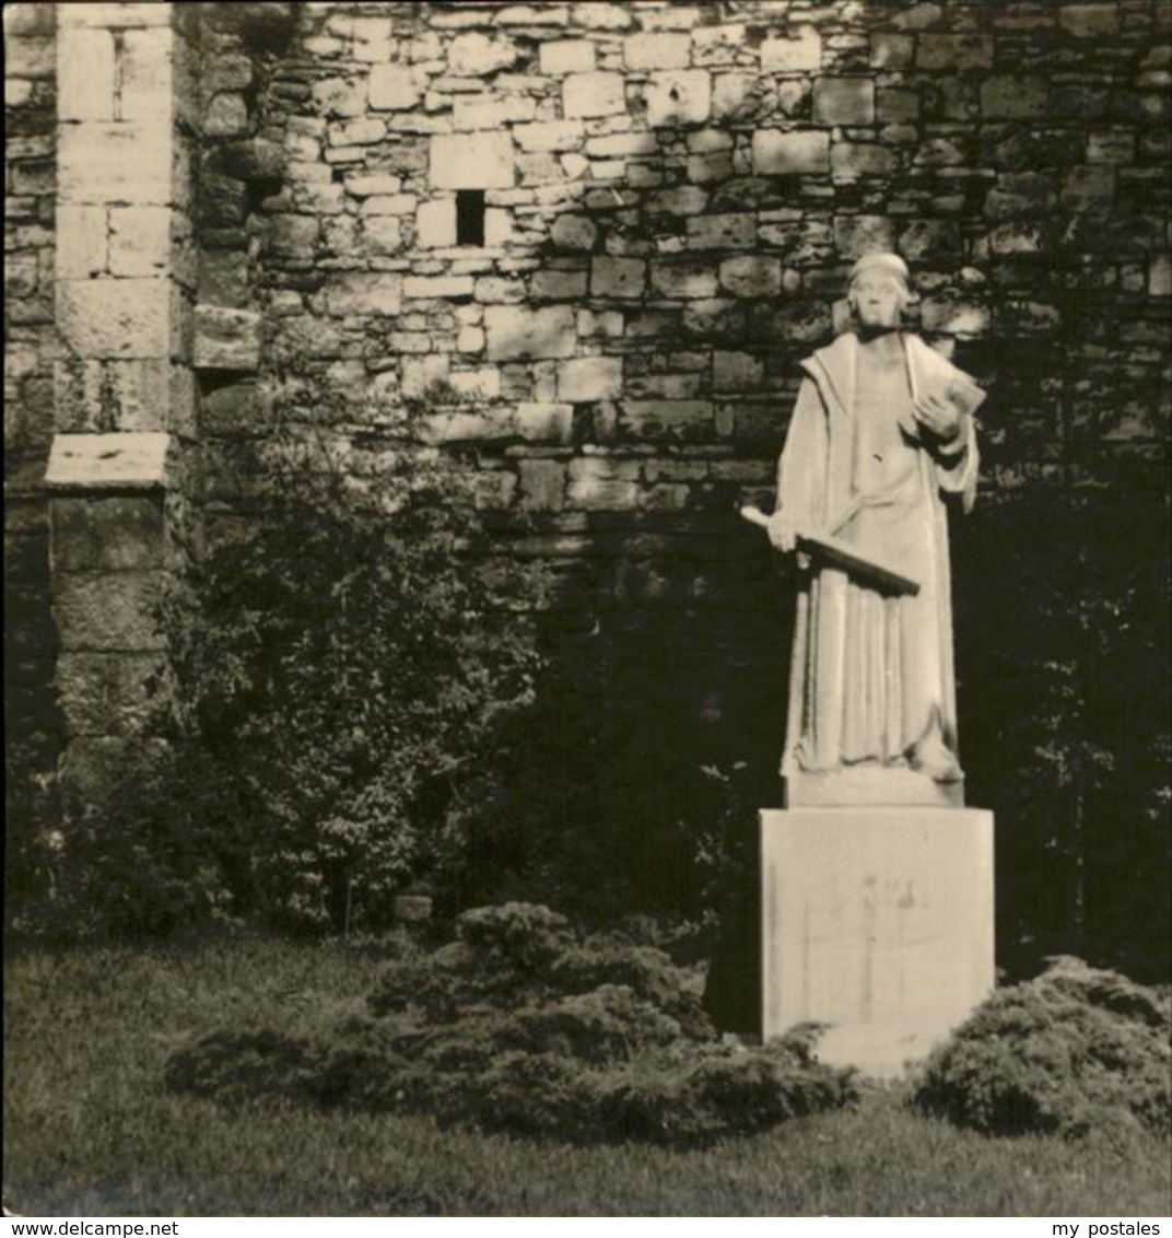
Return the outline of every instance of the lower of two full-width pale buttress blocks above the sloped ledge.
<path id="1" fill-rule="evenodd" d="M 57 326 L 66 348 L 78 357 L 170 357 L 171 311 L 166 279 L 57 282 Z"/>

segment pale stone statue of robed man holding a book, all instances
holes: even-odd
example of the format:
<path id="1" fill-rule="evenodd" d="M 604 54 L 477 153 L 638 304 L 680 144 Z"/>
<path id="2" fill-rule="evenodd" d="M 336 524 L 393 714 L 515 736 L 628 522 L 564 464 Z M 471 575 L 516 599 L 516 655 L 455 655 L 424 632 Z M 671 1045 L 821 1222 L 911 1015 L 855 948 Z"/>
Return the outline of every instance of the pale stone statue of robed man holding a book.
<path id="1" fill-rule="evenodd" d="M 787 802 L 963 805 L 946 496 L 972 508 L 984 392 L 900 329 L 897 255 L 861 258 L 848 300 L 802 363 L 767 525 L 801 568 Z"/>

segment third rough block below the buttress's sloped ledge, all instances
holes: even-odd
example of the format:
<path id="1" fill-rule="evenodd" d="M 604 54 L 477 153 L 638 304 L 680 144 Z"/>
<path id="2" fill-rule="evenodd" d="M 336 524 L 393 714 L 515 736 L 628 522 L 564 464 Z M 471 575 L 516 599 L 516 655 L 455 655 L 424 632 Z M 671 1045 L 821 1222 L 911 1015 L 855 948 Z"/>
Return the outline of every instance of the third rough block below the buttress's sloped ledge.
<path id="1" fill-rule="evenodd" d="M 137 735 L 171 708 L 158 654 L 63 652 L 54 677 L 66 735 Z"/>

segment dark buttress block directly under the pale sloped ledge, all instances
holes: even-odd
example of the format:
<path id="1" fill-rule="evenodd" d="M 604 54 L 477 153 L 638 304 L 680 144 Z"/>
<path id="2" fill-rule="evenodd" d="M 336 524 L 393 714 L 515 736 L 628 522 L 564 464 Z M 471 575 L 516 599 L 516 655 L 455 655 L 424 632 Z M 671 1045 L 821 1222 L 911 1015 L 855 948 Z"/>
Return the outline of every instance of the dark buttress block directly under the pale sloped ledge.
<path id="1" fill-rule="evenodd" d="M 167 565 L 163 498 L 104 494 L 50 503 L 56 571 L 150 571 Z"/>

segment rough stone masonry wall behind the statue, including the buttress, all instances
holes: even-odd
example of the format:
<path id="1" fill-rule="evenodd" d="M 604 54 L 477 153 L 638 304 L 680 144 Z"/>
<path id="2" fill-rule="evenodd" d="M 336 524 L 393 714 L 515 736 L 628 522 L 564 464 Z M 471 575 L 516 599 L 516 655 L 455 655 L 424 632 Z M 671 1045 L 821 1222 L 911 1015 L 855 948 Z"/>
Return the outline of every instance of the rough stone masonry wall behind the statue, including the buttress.
<path id="1" fill-rule="evenodd" d="M 243 447 L 298 410 L 356 474 L 406 412 L 624 690 L 744 730 L 777 594 L 731 513 L 873 248 L 993 392 L 986 501 L 1162 493 L 1162 0 L 5 20 L 10 708 L 87 787 L 150 734 L 179 531 L 230 525 Z"/>

